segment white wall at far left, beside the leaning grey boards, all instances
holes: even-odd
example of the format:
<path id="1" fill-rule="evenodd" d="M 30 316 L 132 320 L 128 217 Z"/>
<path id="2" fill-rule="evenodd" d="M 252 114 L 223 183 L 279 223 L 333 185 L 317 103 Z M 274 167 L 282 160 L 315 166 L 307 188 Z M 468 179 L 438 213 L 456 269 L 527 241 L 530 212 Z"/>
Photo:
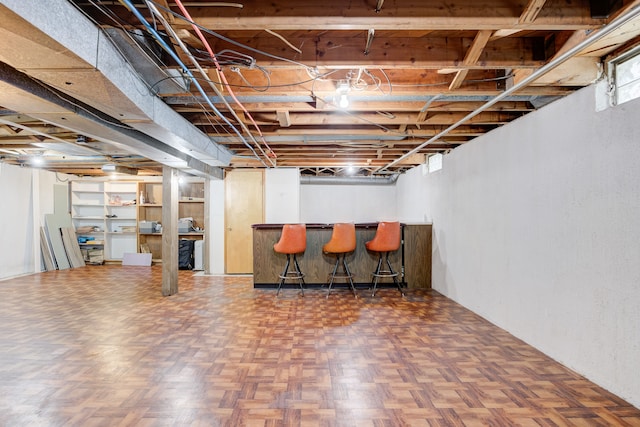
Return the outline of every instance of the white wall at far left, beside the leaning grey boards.
<path id="1" fill-rule="evenodd" d="M 39 233 L 56 175 L 0 163 L 0 279 L 41 271 Z"/>

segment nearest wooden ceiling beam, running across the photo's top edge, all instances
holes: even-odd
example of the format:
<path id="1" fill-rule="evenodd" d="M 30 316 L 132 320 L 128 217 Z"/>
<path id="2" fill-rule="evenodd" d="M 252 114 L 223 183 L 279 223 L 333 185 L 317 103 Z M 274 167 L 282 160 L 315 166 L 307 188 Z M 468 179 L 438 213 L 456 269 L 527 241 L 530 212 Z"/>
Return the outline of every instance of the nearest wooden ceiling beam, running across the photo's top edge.
<path id="1" fill-rule="evenodd" d="M 502 0 L 455 0 L 448 2 L 447 7 L 441 7 L 438 2 L 396 2 L 385 4 L 379 13 L 375 13 L 367 2 L 352 4 L 325 0 L 285 5 L 277 1 L 245 0 L 242 9 L 216 8 L 213 13 L 209 8 L 190 8 L 190 14 L 199 25 L 215 31 L 578 29 L 604 23 L 603 19 L 591 17 L 586 0 L 550 2 L 541 13 L 544 3 L 530 0 L 522 9 L 514 7 L 513 2 Z M 177 24 L 188 25 L 186 22 Z"/>

